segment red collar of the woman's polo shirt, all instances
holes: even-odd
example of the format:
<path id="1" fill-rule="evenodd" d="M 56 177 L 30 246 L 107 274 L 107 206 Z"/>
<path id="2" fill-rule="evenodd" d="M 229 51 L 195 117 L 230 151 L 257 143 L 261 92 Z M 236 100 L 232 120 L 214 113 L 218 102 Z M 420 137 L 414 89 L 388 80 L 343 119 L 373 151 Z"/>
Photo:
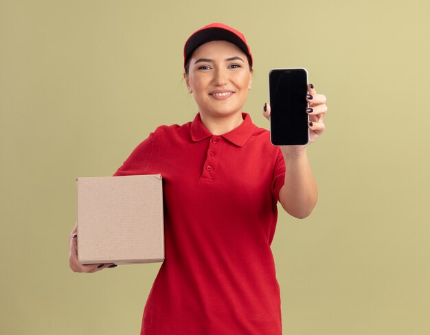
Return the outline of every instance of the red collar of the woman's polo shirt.
<path id="1" fill-rule="evenodd" d="M 254 125 L 249 114 L 242 113 L 242 117 L 243 122 L 240 124 L 240 126 L 229 132 L 226 132 L 223 135 L 220 135 L 221 137 L 227 139 L 227 141 L 230 141 L 231 143 L 240 147 L 247 143 L 254 130 Z M 194 117 L 194 120 L 191 123 L 190 133 L 191 139 L 196 142 L 203 141 L 203 139 L 207 139 L 207 137 L 214 136 L 201 122 L 200 113 L 197 113 L 196 117 Z"/>

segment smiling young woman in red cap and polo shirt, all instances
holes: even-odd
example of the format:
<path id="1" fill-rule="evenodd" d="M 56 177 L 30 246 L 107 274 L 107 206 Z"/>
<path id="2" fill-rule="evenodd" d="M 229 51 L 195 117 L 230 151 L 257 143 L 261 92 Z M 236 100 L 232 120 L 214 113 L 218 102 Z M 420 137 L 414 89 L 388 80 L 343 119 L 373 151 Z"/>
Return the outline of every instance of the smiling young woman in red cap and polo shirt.
<path id="1" fill-rule="evenodd" d="M 280 288 L 271 242 L 276 203 L 296 218 L 310 214 L 317 185 L 306 146 L 275 147 L 269 131 L 242 113 L 252 82 L 245 37 L 213 23 L 184 47 L 184 78 L 199 113 L 182 126 L 160 126 L 115 176 L 163 176 L 166 260 L 150 291 L 141 334 L 282 334 Z M 310 141 L 324 131 L 326 97 L 313 85 Z M 269 118 L 270 106 L 264 104 Z M 115 264 L 79 264 L 76 227 L 71 269 L 93 273 Z"/>

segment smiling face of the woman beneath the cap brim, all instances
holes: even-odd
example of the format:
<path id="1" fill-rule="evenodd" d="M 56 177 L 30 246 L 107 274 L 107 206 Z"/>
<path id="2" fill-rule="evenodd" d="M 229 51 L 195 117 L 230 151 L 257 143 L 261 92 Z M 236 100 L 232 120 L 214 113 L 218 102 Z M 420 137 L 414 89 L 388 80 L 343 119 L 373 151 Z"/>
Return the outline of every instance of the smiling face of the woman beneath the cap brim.
<path id="1" fill-rule="evenodd" d="M 242 112 L 251 89 L 252 72 L 239 47 L 227 41 L 212 41 L 194 51 L 184 78 L 200 113 L 224 117 Z"/>

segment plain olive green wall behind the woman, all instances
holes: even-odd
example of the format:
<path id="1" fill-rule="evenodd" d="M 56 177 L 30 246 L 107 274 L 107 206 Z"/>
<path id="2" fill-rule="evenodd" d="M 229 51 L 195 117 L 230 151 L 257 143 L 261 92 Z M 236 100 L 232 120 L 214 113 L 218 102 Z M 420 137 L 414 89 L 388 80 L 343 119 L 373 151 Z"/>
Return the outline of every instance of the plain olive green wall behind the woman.
<path id="1" fill-rule="evenodd" d="M 1 334 L 138 334 L 159 264 L 72 273 L 76 178 L 196 113 L 182 46 L 214 21 L 328 96 L 313 215 L 282 213 L 284 334 L 430 334 L 427 1 L 0 1 Z"/>

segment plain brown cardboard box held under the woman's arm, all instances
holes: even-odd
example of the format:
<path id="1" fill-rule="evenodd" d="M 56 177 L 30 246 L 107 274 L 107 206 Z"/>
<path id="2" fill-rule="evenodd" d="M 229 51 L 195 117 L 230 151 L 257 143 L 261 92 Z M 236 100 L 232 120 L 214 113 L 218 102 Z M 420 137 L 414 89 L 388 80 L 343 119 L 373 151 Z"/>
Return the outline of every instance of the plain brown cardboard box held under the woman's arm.
<path id="1" fill-rule="evenodd" d="M 160 174 L 78 178 L 77 186 L 81 264 L 163 262 Z"/>

